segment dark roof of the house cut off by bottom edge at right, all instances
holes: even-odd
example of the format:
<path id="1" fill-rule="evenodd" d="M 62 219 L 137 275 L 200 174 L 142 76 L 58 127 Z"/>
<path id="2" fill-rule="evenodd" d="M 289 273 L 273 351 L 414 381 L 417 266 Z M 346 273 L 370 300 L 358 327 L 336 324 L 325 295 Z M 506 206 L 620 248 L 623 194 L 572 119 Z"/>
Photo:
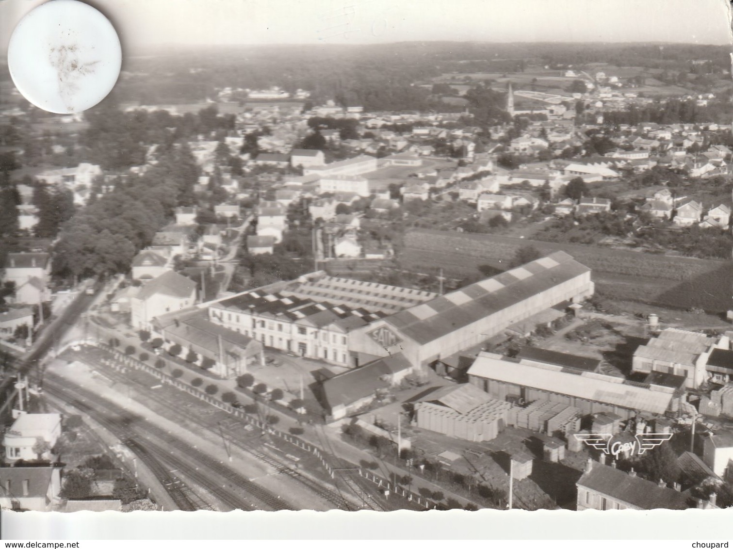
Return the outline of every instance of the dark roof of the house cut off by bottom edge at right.
<path id="1" fill-rule="evenodd" d="M 591 470 L 578 480 L 578 486 L 638 509 L 689 509 L 695 506 L 684 493 L 660 487 L 656 482 L 601 463 L 593 463 Z"/>

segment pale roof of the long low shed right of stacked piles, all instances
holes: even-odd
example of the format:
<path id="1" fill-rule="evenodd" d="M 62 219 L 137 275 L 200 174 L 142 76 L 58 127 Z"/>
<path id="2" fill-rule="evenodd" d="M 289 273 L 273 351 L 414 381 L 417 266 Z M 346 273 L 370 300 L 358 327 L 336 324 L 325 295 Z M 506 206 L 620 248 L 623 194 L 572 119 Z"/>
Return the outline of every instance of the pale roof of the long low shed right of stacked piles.
<path id="1" fill-rule="evenodd" d="M 628 385 L 622 377 L 570 374 L 561 366 L 532 366 L 493 353 L 479 353 L 468 375 L 652 413 L 665 413 L 672 399 L 671 391 Z"/>

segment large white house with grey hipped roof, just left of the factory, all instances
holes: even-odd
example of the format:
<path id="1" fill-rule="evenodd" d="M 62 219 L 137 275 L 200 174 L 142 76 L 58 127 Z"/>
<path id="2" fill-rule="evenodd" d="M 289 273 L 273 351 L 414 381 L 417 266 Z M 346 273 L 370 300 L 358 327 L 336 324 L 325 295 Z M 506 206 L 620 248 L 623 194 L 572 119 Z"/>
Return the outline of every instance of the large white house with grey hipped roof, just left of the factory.
<path id="1" fill-rule="evenodd" d="M 170 270 L 145 284 L 130 298 L 133 328 L 150 329 L 153 318 L 196 303 L 196 283 Z"/>

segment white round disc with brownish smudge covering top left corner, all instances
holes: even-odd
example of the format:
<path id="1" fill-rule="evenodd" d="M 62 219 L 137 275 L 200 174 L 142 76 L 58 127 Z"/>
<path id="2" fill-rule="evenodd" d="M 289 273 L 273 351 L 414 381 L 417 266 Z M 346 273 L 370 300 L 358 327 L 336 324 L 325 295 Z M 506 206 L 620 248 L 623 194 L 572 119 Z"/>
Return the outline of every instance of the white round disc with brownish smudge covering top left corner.
<path id="1" fill-rule="evenodd" d="M 7 49 L 12 81 L 44 111 L 86 111 L 111 91 L 122 47 L 108 19 L 77 0 L 53 0 L 30 11 Z"/>

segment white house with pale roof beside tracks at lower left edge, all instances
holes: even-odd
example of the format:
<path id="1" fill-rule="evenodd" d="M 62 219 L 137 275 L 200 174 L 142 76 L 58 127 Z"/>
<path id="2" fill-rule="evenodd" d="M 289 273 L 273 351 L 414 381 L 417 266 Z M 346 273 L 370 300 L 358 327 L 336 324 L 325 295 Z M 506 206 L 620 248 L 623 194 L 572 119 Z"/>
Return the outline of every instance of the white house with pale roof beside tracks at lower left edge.
<path id="1" fill-rule="evenodd" d="M 51 460 L 51 449 L 60 436 L 60 413 L 21 413 L 5 432 L 5 461 Z M 43 452 L 37 452 L 39 441 L 45 441 Z"/>

